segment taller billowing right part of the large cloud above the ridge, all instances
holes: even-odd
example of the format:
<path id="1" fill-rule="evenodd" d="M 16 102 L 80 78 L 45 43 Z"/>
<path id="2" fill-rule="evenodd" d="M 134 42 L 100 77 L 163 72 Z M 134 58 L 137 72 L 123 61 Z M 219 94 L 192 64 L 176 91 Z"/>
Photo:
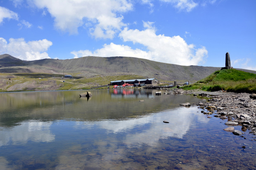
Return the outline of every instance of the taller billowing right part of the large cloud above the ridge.
<path id="1" fill-rule="evenodd" d="M 149 59 L 180 65 L 197 65 L 207 56 L 205 47 L 194 48 L 193 44 L 187 44 L 180 36 L 166 37 L 156 35 L 155 30 L 146 29 L 128 30 L 125 28 L 119 36 L 123 41 L 132 41 L 147 47 L 150 51 Z"/>

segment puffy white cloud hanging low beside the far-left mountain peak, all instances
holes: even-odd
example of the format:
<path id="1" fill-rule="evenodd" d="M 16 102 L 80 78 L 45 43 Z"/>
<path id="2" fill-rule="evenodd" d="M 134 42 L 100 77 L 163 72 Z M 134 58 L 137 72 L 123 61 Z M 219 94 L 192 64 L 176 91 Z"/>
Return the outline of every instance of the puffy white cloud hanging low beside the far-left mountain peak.
<path id="1" fill-rule="evenodd" d="M 0 37 L 0 53 L 7 53 L 21 60 L 50 58 L 46 51 L 52 45 L 47 39 L 26 42 L 23 38 L 9 39 L 9 44 Z"/>

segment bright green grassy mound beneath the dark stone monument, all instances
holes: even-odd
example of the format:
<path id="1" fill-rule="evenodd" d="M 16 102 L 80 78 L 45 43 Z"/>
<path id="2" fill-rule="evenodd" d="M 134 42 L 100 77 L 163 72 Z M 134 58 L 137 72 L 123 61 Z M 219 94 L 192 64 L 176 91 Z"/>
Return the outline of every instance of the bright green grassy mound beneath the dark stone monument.
<path id="1" fill-rule="evenodd" d="M 215 71 L 210 76 L 197 81 L 183 89 L 201 89 L 204 91 L 225 90 L 227 92 L 256 92 L 256 74 L 236 69 Z"/>

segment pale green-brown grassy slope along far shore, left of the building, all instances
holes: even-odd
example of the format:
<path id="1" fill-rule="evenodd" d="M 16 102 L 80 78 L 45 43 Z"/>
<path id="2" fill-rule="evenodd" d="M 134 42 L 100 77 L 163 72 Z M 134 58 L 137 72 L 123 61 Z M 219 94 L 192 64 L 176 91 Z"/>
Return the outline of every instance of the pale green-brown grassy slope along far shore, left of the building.
<path id="1" fill-rule="evenodd" d="M 0 73 L 0 92 L 108 88 L 112 80 L 143 79 L 138 75 L 64 78 L 62 74 Z M 103 87 L 102 87 L 103 86 Z"/>

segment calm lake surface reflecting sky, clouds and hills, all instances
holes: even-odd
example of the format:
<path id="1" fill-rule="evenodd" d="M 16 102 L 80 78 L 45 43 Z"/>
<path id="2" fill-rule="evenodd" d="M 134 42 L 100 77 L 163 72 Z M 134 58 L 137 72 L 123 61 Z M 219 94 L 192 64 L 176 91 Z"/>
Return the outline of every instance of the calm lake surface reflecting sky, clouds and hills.
<path id="1" fill-rule="evenodd" d="M 227 120 L 203 115 L 197 97 L 83 92 L 0 93 L 0 169 L 256 169 L 254 136 L 223 131 Z"/>

